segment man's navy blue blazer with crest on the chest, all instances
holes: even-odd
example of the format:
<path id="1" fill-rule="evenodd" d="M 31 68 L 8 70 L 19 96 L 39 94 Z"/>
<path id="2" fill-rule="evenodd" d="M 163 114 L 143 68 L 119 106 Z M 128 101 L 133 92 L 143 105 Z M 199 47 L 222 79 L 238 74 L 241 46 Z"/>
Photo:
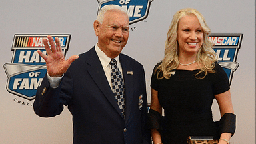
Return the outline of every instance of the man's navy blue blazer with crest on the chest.
<path id="1" fill-rule="evenodd" d="M 45 75 L 37 89 L 34 111 L 54 117 L 67 105 L 73 115 L 73 143 L 150 143 L 146 128 L 147 95 L 143 66 L 119 55 L 125 81 L 126 118 L 107 81 L 95 47 L 79 55 L 59 87 L 53 89 Z"/>

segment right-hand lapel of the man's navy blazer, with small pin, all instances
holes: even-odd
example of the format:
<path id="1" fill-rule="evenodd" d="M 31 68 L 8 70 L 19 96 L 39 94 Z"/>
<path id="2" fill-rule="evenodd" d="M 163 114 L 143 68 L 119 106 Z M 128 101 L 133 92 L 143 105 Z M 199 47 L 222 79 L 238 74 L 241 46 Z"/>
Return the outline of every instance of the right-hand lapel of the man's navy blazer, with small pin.
<path id="1" fill-rule="evenodd" d="M 125 81 L 125 121 L 131 115 L 131 104 L 133 103 L 133 69 L 130 63 L 123 55 L 119 55 L 120 63 L 123 69 L 123 79 Z"/>

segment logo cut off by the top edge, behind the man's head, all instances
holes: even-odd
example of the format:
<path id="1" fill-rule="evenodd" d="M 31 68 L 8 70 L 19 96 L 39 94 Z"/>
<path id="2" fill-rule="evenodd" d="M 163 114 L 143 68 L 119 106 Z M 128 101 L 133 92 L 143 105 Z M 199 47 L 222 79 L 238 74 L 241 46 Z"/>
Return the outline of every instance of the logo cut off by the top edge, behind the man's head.
<path id="1" fill-rule="evenodd" d="M 98 3 L 99 10 L 105 5 L 120 5 L 129 13 L 129 24 L 132 24 L 147 18 L 152 1 L 153 0 L 98 0 Z"/>

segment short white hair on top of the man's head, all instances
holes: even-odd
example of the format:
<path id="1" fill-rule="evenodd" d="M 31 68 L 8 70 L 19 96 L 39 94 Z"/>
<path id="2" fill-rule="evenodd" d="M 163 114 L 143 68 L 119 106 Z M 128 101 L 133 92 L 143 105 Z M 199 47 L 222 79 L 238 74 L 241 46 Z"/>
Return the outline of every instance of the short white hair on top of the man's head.
<path id="1" fill-rule="evenodd" d="M 99 23 L 102 24 L 103 19 L 105 17 L 105 13 L 107 13 L 107 11 L 111 11 L 111 10 L 121 11 L 121 12 L 125 13 L 127 15 L 128 19 L 129 19 L 129 13 L 127 13 L 127 11 L 125 9 L 123 9 L 122 7 L 120 7 L 119 5 L 105 5 L 99 11 L 96 20 L 99 21 Z"/>

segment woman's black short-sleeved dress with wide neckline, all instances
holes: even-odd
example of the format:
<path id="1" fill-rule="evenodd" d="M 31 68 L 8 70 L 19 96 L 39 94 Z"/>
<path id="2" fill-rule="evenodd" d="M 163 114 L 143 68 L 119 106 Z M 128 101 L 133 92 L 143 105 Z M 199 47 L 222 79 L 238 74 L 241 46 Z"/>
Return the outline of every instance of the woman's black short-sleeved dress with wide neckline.
<path id="1" fill-rule="evenodd" d="M 199 70 L 175 69 L 170 79 L 157 79 L 153 74 L 151 87 L 158 91 L 165 111 L 161 137 L 163 143 L 187 143 L 189 136 L 215 136 L 211 106 L 216 94 L 228 91 L 229 81 L 222 67 L 215 63 L 216 73 L 204 79 L 195 78 Z"/>

